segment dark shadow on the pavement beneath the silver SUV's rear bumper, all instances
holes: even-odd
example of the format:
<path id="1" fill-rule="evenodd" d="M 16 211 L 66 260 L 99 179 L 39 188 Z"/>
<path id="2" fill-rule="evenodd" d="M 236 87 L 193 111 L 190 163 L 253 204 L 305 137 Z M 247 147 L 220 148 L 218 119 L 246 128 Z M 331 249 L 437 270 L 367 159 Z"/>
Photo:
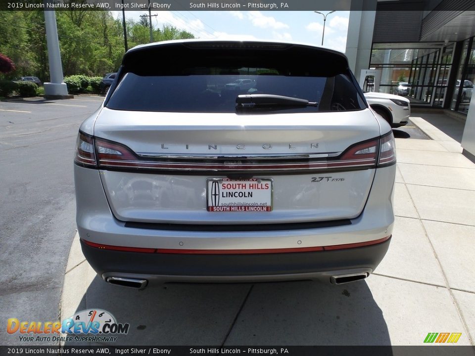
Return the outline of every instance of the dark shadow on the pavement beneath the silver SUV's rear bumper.
<path id="1" fill-rule="evenodd" d="M 138 291 L 95 276 L 76 312 L 84 309 L 130 324 L 127 335 L 101 345 L 391 344 L 366 281 L 167 284 Z"/>

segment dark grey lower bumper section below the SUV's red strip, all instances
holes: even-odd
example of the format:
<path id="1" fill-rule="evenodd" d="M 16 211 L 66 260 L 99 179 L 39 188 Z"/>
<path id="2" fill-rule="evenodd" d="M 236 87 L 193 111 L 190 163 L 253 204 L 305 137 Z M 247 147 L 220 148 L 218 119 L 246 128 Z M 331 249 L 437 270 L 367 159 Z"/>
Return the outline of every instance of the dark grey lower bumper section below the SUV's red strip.
<path id="1" fill-rule="evenodd" d="M 264 282 L 319 279 L 371 273 L 389 247 L 379 244 L 334 251 L 200 255 L 142 253 L 99 249 L 81 240 L 83 253 L 104 280 L 108 277 L 166 282 Z"/>

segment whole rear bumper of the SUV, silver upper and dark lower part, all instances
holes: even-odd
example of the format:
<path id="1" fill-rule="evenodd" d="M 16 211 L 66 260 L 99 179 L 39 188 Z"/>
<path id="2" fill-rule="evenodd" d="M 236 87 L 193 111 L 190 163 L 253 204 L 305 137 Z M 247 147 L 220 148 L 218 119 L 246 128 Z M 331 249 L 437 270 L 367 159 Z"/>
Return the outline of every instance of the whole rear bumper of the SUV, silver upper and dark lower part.
<path id="1" fill-rule="evenodd" d="M 243 254 L 161 253 L 168 250 L 299 249 L 377 241 L 392 233 L 395 165 L 379 168 L 363 212 L 350 223 L 275 229 L 216 230 L 129 226 L 110 211 L 96 170 L 75 167 L 77 225 L 81 239 L 107 246 L 151 249 L 152 253 L 114 251 L 82 243 L 84 255 L 107 277 L 158 282 L 248 282 L 329 280 L 332 275 L 371 273 L 387 251 L 380 244 L 340 250 Z M 261 225 L 262 226 L 262 225 Z M 195 226 L 197 227 L 197 226 Z M 154 250 L 155 249 L 155 250 Z M 323 250 L 323 249 L 322 249 Z M 158 253 L 160 252 L 160 253 Z"/>

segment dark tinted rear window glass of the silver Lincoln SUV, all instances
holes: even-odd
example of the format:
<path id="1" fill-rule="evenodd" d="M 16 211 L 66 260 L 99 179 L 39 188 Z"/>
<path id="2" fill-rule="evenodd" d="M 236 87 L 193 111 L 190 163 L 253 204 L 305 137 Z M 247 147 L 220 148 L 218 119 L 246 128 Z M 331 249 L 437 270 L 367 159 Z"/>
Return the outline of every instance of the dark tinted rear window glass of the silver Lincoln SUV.
<path id="1" fill-rule="evenodd" d="M 255 58 L 248 58 L 249 62 L 253 60 Z M 193 58 L 189 61 L 192 62 Z M 263 58 L 258 61 L 263 62 Z M 269 62 L 272 61 L 269 57 Z M 177 63 L 170 63 L 169 69 L 163 67 L 166 62 L 155 64 L 160 65 L 160 69 L 148 71 L 144 70 L 146 64 L 137 62 L 124 66 L 106 106 L 134 111 L 239 113 L 236 105 L 238 95 L 275 94 L 318 104 L 306 107 L 270 105 L 265 110 L 256 111 L 315 112 L 366 108 L 347 68 L 325 70 L 321 67 L 328 62 L 320 65 L 309 61 L 299 63 L 293 58 L 279 67 L 238 67 L 217 66 L 213 61 L 206 66 L 204 61 L 198 61 L 199 66 L 188 62 L 182 68 Z"/>

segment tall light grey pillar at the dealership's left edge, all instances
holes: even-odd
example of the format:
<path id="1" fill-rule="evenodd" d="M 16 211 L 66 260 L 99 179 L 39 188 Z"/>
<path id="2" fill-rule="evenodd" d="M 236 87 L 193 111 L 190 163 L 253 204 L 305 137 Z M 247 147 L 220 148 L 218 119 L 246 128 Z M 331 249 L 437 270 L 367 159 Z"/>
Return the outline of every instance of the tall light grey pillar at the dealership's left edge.
<path id="1" fill-rule="evenodd" d="M 371 46 L 373 44 L 373 30 L 375 27 L 376 11 L 363 10 L 376 8 L 371 5 L 376 0 L 353 1 L 351 3 L 348 21 L 348 35 L 346 37 L 346 56 L 350 69 L 359 78 L 362 69 L 369 69 Z M 357 7 L 360 7 L 358 11 Z"/>

